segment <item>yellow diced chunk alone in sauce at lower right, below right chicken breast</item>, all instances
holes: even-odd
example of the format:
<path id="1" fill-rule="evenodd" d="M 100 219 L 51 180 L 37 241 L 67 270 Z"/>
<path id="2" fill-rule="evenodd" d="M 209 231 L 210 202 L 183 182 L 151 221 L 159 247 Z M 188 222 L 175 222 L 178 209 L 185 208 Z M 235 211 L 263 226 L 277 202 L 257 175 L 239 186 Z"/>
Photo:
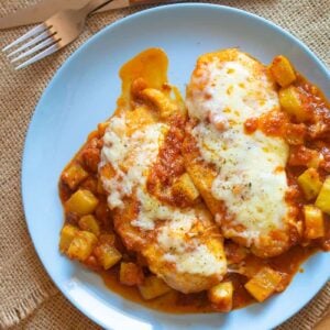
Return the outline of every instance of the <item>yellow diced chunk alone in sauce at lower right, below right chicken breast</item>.
<path id="1" fill-rule="evenodd" d="M 245 285 L 246 290 L 260 302 L 268 298 L 282 280 L 278 272 L 263 267 Z"/>

